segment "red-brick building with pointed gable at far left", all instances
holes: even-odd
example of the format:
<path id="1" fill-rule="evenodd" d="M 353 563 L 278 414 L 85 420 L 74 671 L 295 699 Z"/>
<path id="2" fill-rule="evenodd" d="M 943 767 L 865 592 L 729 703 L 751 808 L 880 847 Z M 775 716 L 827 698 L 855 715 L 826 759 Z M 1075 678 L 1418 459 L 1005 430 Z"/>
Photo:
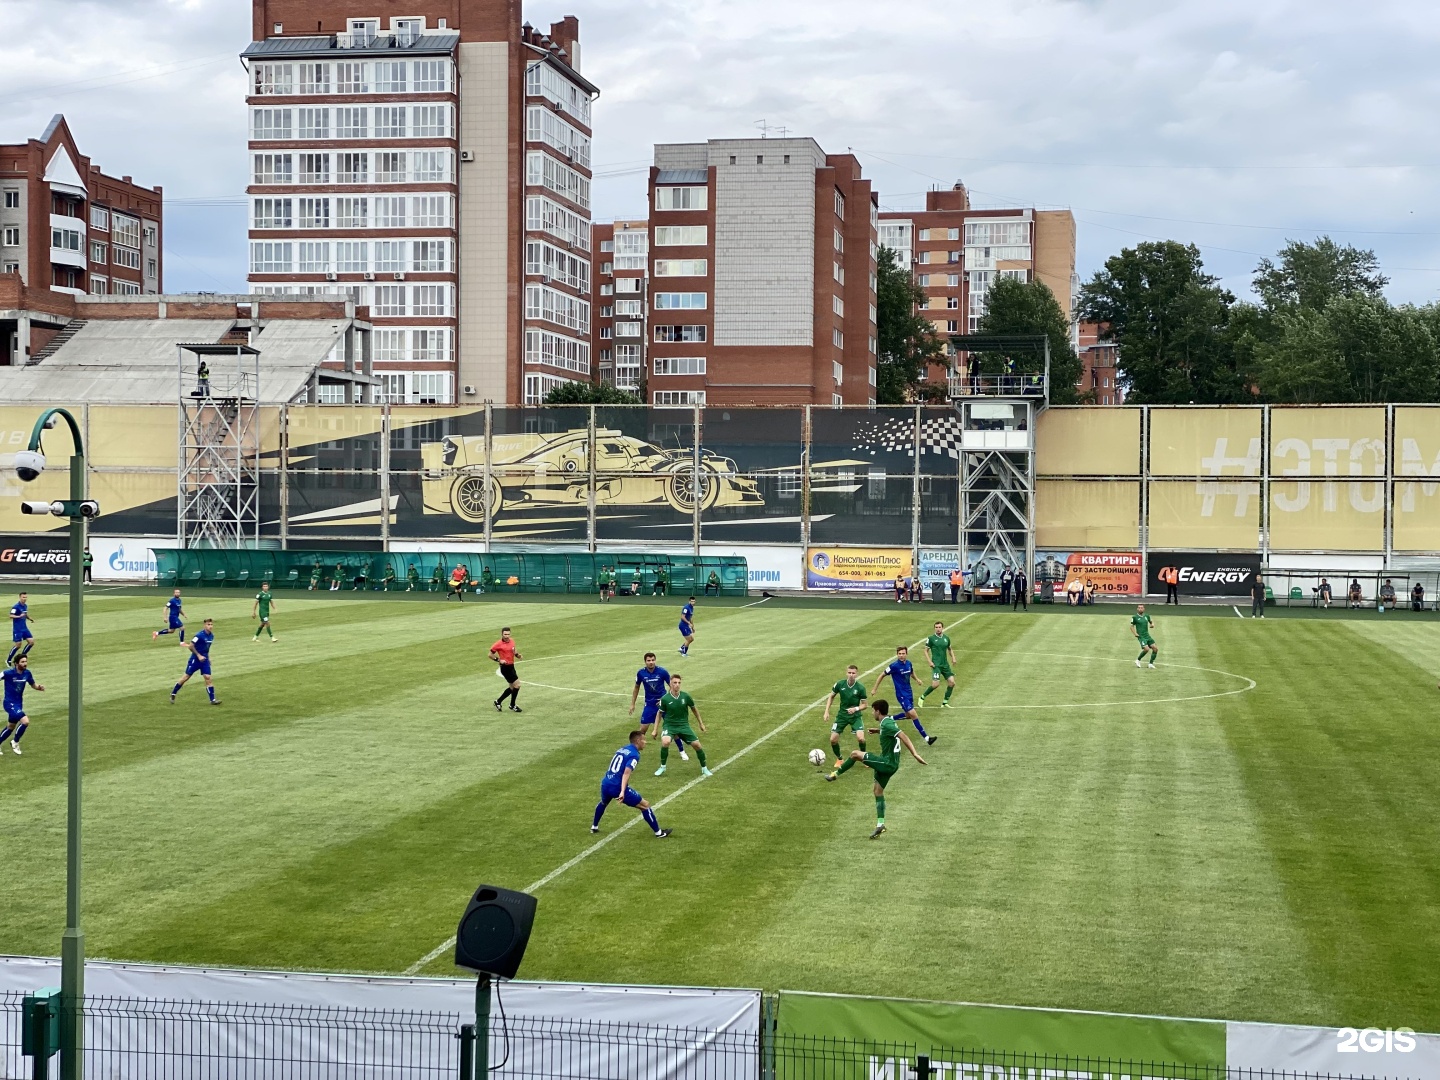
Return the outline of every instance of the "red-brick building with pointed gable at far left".
<path id="1" fill-rule="evenodd" d="M 19 276 L 10 297 L 35 301 L 0 310 L 0 366 L 23 364 L 65 325 L 46 292 L 160 292 L 163 220 L 161 189 L 102 173 L 62 115 L 0 145 L 0 275 Z"/>

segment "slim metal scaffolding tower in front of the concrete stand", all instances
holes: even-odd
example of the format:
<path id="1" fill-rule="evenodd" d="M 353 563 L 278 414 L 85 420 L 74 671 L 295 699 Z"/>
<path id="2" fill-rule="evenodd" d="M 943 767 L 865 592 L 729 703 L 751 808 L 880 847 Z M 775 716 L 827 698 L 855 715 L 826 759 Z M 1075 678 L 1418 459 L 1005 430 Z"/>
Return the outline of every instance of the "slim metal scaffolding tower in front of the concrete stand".
<path id="1" fill-rule="evenodd" d="M 243 547 L 259 540 L 259 350 L 181 344 L 181 547 Z"/>

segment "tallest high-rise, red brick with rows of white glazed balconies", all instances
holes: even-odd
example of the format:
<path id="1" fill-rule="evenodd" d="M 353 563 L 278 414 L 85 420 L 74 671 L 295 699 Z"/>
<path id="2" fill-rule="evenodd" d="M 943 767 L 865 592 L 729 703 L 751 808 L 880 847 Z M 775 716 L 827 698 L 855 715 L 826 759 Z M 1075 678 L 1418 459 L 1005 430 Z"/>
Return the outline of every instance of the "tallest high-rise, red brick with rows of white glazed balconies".
<path id="1" fill-rule="evenodd" d="M 520 0 L 252 3 L 252 289 L 369 307 L 390 400 L 589 380 L 599 91 L 579 20 L 541 33 Z"/>

